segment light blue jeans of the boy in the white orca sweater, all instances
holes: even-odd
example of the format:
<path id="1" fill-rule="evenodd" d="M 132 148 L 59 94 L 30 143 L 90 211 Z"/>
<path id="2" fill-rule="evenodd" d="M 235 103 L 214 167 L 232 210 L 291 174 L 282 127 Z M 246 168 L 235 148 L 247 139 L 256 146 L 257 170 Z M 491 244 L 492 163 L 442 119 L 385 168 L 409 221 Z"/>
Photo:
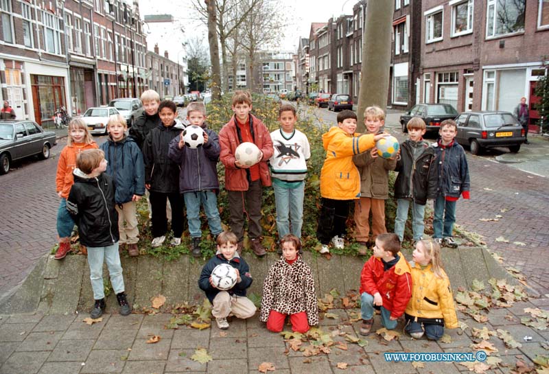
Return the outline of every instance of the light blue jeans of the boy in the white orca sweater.
<path id="1" fill-rule="evenodd" d="M 274 201 L 277 207 L 277 229 L 279 237 L 291 233 L 301 237 L 301 226 L 303 226 L 303 196 L 305 183 L 299 187 L 288 188 L 272 183 L 274 189 Z"/>

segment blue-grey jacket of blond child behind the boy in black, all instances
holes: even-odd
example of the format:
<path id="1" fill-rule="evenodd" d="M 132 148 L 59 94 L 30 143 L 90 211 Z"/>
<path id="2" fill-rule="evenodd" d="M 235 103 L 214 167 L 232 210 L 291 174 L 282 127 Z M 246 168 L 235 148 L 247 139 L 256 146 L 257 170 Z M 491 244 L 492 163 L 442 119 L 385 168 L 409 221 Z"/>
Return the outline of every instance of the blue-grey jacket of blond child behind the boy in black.
<path id="1" fill-rule="evenodd" d="M 115 179 L 115 202 L 124 204 L 134 195 L 145 194 L 145 165 L 137 143 L 124 137 L 114 141 L 111 137 L 101 145 L 108 161 L 106 173 Z"/>

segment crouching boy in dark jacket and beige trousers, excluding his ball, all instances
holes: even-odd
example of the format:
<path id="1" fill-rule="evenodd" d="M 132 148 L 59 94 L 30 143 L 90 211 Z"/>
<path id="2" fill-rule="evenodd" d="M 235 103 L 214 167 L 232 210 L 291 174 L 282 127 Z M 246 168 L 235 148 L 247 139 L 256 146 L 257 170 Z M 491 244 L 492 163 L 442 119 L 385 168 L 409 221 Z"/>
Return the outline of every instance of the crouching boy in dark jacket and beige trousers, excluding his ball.
<path id="1" fill-rule="evenodd" d="M 206 293 L 213 309 L 211 314 L 220 329 L 229 329 L 227 316 L 233 314 L 237 318 L 250 318 L 255 314 L 257 308 L 254 303 L 246 297 L 246 290 L 252 285 L 250 267 L 237 253 L 238 238 L 231 231 L 223 231 L 218 235 L 218 252 L 215 253 L 207 264 L 202 268 L 198 286 Z M 230 290 L 222 291 L 215 287 L 211 272 L 219 264 L 229 264 L 237 272 L 236 284 Z"/>

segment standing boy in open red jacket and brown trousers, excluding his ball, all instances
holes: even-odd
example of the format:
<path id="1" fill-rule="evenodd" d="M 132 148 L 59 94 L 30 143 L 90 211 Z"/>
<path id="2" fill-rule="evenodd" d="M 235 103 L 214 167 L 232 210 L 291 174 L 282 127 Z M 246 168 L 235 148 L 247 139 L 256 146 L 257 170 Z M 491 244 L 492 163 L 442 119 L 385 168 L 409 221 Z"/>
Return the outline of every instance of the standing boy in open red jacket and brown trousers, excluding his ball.
<path id="1" fill-rule="evenodd" d="M 261 244 L 261 194 L 263 186 L 270 186 L 268 161 L 272 156 L 272 140 L 269 130 L 255 115 L 252 115 L 252 97 L 245 91 L 235 91 L 232 108 L 234 117 L 219 132 L 220 159 L 225 166 L 225 189 L 229 194 L 231 231 L 238 238 L 238 252 L 244 246 L 244 216 L 248 217 L 248 237 L 253 253 L 266 255 Z M 261 151 L 259 163 L 246 166 L 235 158 L 235 150 L 249 141 Z"/>

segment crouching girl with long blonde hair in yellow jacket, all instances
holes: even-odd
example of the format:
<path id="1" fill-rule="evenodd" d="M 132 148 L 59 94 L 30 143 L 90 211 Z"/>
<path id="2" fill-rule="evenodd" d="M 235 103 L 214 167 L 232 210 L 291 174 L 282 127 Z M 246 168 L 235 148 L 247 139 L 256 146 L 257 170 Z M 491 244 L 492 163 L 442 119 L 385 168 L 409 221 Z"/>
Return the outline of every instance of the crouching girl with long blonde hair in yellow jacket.
<path id="1" fill-rule="evenodd" d="M 458 327 L 452 288 L 441 263 L 441 247 L 432 240 L 419 240 L 412 256 L 412 297 L 404 314 L 404 330 L 412 338 L 425 334 L 429 340 L 439 340 L 444 327 Z"/>

